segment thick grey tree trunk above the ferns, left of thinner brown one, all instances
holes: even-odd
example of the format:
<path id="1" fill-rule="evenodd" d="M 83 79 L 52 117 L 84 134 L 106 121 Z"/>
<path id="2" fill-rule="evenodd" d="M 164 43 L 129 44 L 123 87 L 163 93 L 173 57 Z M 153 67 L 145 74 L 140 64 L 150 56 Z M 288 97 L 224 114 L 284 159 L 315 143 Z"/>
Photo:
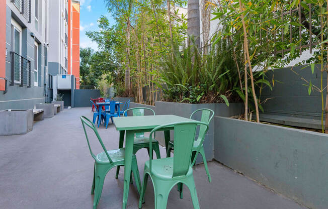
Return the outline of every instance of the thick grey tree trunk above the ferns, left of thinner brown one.
<path id="1" fill-rule="evenodd" d="M 200 51 L 200 12 L 199 0 L 188 0 L 188 26 L 187 32 L 189 37 L 193 37 L 195 45 Z M 189 40 L 190 42 L 191 40 Z"/>

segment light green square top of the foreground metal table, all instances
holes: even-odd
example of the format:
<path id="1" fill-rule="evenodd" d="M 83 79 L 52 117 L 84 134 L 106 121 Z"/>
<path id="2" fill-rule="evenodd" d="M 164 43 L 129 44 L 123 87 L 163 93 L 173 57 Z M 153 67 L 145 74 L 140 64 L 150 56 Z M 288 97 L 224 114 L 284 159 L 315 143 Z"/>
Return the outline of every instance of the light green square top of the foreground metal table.
<path id="1" fill-rule="evenodd" d="M 153 129 L 164 124 L 195 121 L 175 115 L 117 117 L 113 120 L 117 131 Z"/>

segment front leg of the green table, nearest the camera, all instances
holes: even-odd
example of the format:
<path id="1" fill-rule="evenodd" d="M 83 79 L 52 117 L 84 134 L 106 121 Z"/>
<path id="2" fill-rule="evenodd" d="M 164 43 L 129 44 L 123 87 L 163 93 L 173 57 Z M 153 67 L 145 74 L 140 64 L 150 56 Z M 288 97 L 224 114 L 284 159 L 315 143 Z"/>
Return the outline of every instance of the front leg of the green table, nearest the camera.
<path id="1" fill-rule="evenodd" d="M 122 209 L 126 209 L 126 203 L 128 200 L 129 186 L 130 186 L 130 174 L 132 165 L 132 155 L 133 155 L 133 131 L 126 132 L 125 139 L 125 157 L 124 157 L 124 190 L 123 190 L 123 204 Z"/>

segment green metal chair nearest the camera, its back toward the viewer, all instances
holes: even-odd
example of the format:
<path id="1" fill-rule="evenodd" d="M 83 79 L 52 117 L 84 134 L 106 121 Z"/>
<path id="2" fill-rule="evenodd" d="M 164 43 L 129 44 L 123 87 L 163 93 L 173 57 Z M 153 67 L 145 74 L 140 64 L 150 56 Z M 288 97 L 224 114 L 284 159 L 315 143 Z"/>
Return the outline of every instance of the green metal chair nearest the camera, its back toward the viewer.
<path id="1" fill-rule="evenodd" d="M 192 149 L 195 142 L 195 133 L 197 125 L 208 129 L 208 125 L 204 122 L 178 122 L 167 125 L 161 125 L 154 128 L 150 132 L 150 140 L 152 134 L 157 130 L 174 126 L 174 157 L 152 160 L 152 153 L 149 153 L 149 160 L 145 162 L 143 184 L 139 199 L 139 208 L 144 202 L 144 193 L 147 186 L 147 180 L 150 176 L 154 187 L 155 209 L 165 209 L 168 203 L 169 193 L 176 184 L 186 184 L 190 190 L 194 208 L 199 208 L 195 180 L 191 161 Z M 203 138 L 204 139 L 204 138 Z M 202 141 L 201 141 L 202 142 Z M 152 143 L 149 142 L 149 149 Z M 196 154 L 198 154 L 196 151 Z M 194 159 L 194 161 L 196 158 Z M 182 191 L 182 190 L 181 190 Z"/>

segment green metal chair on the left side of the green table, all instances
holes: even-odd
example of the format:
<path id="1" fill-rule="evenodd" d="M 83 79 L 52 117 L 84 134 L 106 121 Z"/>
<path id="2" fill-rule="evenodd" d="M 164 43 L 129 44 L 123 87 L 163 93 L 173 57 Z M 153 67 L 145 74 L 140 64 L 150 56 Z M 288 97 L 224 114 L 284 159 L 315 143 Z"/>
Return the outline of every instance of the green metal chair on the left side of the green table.
<path id="1" fill-rule="evenodd" d="M 107 172 L 110 169 L 112 169 L 116 166 L 124 166 L 124 151 L 125 151 L 125 149 L 120 148 L 120 149 L 117 149 L 117 150 L 107 150 L 105 148 L 104 144 L 103 144 L 102 139 L 99 136 L 99 133 L 98 133 L 95 125 L 88 118 L 86 118 L 84 116 L 81 116 L 80 119 L 81 119 L 83 129 L 84 129 L 85 134 L 86 134 L 86 138 L 87 138 L 87 142 L 88 142 L 88 146 L 89 146 L 91 156 L 95 159 L 94 180 L 92 182 L 91 194 L 95 194 L 94 195 L 94 206 L 93 206 L 93 208 L 96 209 L 97 205 L 99 203 L 101 192 L 103 190 L 103 184 L 104 184 L 104 180 L 105 180 L 105 176 L 106 176 Z M 95 132 L 95 134 L 96 134 L 96 136 L 99 140 L 99 143 L 101 144 L 102 148 L 104 149 L 104 152 L 99 153 L 98 155 L 95 155 L 92 152 L 85 125 L 90 127 Z M 133 176 L 134 176 L 134 179 L 135 179 L 135 182 L 136 182 L 138 192 L 140 193 L 140 187 L 141 187 L 140 176 L 139 176 L 137 159 L 136 159 L 135 155 L 133 155 L 133 157 L 132 157 L 131 170 L 133 172 Z M 125 192 L 125 191 L 123 191 L 123 192 Z"/>

